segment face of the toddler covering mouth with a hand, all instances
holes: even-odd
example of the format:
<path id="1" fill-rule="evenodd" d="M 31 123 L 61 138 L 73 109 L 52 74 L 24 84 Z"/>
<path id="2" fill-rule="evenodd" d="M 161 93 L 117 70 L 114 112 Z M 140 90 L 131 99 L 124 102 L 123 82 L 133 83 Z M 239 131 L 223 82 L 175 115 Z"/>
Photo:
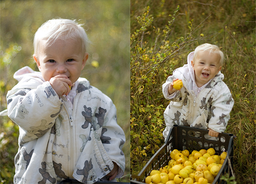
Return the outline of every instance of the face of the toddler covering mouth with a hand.
<path id="1" fill-rule="evenodd" d="M 34 55 L 39 71 L 45 81 L 57 75 L 66 75 L 74 83 L 88 59 L 88 53 L 82 52 L 81 41 L 72 39 L 57 40 L 51 46 L 43 46 L 40 41 L 40 54 Z"/>

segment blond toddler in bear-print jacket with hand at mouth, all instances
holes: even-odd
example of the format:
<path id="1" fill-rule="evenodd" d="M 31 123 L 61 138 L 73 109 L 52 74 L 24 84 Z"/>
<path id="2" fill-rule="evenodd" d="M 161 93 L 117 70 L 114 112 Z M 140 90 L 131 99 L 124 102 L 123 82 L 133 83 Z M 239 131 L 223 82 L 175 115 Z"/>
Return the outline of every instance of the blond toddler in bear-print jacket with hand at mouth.
<path id="1" fill-rule="evenodd" d="M 85 78 L 88 38 L 75 20 L 45 22 L 34 36 L 40 72 L 25 66 L 7 93 L 19 126 L 15 184 L 87 183 L 120 178 L 123 129 L 112 100 Z"/>

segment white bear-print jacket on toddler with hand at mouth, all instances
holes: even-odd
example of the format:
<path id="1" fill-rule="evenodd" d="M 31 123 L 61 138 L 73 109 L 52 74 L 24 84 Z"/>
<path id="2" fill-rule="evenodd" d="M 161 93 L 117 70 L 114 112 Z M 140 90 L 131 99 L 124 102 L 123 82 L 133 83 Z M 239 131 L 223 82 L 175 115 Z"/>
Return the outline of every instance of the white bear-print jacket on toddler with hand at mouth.
<path id="1" fill-rule="evenodd" d="M 79 78 L 72 105 L 40 72 L 26 66 L 14 78 L 19 82 L 7 93 L 7 109 L 20 132 L 15 184 L 64 179 L 92 184 L 113 169 L 113 162 L 119 166 L 117 178 L 123 175 L 125 135 L 109 97 Z"/>

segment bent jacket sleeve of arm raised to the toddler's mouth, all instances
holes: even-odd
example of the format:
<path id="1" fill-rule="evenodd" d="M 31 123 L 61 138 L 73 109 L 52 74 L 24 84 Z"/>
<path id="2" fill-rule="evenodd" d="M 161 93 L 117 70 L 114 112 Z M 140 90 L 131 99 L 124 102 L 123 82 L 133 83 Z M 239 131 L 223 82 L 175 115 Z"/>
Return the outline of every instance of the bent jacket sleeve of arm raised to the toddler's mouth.
<path id="1" fill-rule="evenodd" d="M 21 80 L 7 93 L 8 116 L 19 126 L 23 143 L 51 129 L 61 107 L 62 102 L 49 82 Z"/>

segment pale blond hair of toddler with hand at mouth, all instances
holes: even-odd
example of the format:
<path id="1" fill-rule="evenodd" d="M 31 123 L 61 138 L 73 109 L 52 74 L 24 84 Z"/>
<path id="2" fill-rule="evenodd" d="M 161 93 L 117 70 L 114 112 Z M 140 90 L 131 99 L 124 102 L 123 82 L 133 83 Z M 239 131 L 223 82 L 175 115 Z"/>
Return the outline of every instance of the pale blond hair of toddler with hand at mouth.
<path id="1" fill-rule="evenodd" d="M 51 46 L 56 40 L 79 39 L 82 43 L 82 51 L 85 53 L 90 43 L 83 25 L 76 20 L 52 19 L 38 28 L 34 36 L 34 54 L 39 54 L 39 43 L 44 40 L 43 46 Z"/>

